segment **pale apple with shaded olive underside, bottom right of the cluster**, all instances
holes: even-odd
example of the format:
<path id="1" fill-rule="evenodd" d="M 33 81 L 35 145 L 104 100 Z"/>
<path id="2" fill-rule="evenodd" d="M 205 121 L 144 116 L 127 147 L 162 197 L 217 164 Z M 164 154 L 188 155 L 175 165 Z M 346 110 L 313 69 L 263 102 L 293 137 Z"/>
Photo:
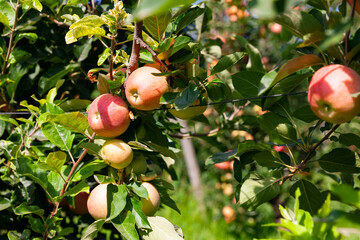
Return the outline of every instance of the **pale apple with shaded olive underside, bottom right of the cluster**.
<path id="1" fill-rule="evenodd" d="M 142 185 L 146 188 L 149 195 L 148 199 L 141 199 L 142 211 L 146 216 L 153 216 L 160 206 L 160 194 L 151 183 L 143 182 Z"/>

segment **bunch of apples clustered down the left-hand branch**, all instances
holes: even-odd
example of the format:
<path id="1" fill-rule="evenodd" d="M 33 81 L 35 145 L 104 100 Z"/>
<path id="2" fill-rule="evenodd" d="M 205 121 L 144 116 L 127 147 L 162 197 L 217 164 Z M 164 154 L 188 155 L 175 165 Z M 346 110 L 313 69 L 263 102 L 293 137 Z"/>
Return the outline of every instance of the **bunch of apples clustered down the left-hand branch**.
<path id="1" fill-rule="evenodd" d="M 90 105 L 88 121 L 91 129 L 100 137 L 107 138 L 100 156 L 111 167 L 123 173 L 132 165 L 137 173 L 145 173 L 147 162 L 144 156 L 134 157 L 129 144 L 119 139 L 130 126 L 128 104 L 142 111 L 150 111 L 161 106 L 160 97 L 168 91 L 166 77 L 155 76 L 160 71 L 153 67 L 140 67 L 127 79 L 125 86 L 126 101 L 117 95 L 105 93 L 97 97 Z M 87 201 L 89 213 L 95 219 L 106 219 L 108 184 L 96 186 Z M 160 205 L 158 190 L 149 182 L 143 182 L 148 191 L 148 199 L 141 199 L 145 215 L 155 214 Z"/>

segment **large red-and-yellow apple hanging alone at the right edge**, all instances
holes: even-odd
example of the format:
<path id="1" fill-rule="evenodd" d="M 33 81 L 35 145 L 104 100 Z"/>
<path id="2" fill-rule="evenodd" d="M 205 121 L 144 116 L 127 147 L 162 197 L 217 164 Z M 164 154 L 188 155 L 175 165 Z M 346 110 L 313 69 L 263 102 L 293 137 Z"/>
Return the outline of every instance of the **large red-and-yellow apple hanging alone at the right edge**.
<path id="1" fill-rule="evenodd" d="M 340 124 L 360 113 L 360 76 L 351 68 L 331 64 L 320 68 L 309 84 L 308 101 L 320 119 Z"/>

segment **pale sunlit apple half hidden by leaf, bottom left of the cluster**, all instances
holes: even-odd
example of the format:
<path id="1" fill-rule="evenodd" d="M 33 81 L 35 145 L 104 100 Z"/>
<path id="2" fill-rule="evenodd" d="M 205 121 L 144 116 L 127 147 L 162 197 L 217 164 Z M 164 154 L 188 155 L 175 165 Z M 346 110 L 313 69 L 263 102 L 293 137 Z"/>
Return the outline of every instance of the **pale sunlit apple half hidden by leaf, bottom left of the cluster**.
<path id="1" fill-rule="evenodd" d="M 107 215 L 107 185 L 97 185 L 89 195 L 87 208 L 90 215 L 95 219 L 106 219 Z"/>

